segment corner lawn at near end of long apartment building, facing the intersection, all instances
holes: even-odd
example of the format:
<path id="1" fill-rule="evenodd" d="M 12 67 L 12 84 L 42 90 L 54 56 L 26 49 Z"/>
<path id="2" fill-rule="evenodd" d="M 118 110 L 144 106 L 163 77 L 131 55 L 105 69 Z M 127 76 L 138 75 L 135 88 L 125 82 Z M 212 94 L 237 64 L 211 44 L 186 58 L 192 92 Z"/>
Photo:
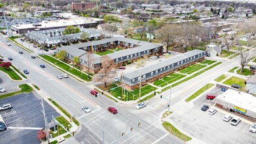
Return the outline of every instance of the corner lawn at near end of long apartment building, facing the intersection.
<path id="1" fill-rule="evenodd" d="M 117 87 L 117 85 L 112 86 L 112 87 Z M 156 88 L 151 85 L 142 86 L 141 87 L 141 97 L 145 96 L 146 94 L 149 94 L 150 92 L 153 92 L 154 90 L 156 90 Z M 120 87 L 111 90 L 110 93 L 113 96 L 115 96 L 115 98 L 118 98 L 119 96 L 122 98 L 122 88 L 120 88 Z M 133 91 L 126 90 L 124 95 L 127 95 L 127 94 L 128 94 L 128 101 L 136 100 L 139 98 L 139 88 L 136 88 Z M 126 101 L 127 97 L 124 98 L 123 100 Z"/>

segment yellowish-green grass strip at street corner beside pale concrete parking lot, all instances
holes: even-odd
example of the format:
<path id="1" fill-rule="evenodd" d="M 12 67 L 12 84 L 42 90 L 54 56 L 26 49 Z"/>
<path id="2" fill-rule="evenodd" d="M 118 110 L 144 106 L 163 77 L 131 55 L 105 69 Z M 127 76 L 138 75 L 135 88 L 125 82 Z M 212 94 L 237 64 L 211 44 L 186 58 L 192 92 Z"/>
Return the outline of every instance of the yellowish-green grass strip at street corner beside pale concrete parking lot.
<path id="1" fill-rule="evenodd" d="M 177 130 L 177 128 L 175 128 L 172 124 L 170 124 L 169 122 L 162 122 L 162 126 L 164 126 L 164 128 L 166 130 L 168 130 L 168 132 L 170 132 L 170 134 L 175 135 L 176 137 L 179 137 L 179 139 L 183 140 L 183 141 L 190 141 L 191 137 L 179 132 L 179 130 Z"/>

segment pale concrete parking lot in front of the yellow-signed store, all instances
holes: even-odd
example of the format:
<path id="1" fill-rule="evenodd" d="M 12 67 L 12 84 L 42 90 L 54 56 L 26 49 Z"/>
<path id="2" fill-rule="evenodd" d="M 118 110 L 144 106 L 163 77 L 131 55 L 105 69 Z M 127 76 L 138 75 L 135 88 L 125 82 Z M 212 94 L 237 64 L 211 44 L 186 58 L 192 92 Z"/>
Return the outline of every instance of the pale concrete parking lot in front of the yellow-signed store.
<path id="1" fill-rule="evenodd" d="M 207 94 L 221 94 L 221 89 L 214 88 Z M 232 126 L 231 120 L 222 120 L 224 113 L 217 111 L 214 115 L 209 115 L 208 111 L 201 111 L 204 104 L 211 107 L 213 102 L 202 96 L 194 101 L 192 109 L 183 115 L 173 113 L 171 118 L 183 130 L 204 143 L 255 143 L 256 134 L 249 132 L 251 125 L 240 122 L 237 126 Z"/>

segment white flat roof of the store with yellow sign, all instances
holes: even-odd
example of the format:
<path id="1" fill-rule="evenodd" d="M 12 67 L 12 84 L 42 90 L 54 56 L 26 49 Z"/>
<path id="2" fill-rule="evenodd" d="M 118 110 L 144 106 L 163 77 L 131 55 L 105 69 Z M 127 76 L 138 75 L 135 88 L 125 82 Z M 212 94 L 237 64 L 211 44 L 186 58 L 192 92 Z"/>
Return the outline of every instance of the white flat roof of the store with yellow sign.
<path id="1" fill-rule="evenodd" d="M 227 103 L 232 103 L 236 107 L 253 111 L 256 113 L 256 97 L 246 92 L 238 92 L 237 90 L 228 89 L 223 94 L 217 96 L 215 99 L 220 99 Z"/>

